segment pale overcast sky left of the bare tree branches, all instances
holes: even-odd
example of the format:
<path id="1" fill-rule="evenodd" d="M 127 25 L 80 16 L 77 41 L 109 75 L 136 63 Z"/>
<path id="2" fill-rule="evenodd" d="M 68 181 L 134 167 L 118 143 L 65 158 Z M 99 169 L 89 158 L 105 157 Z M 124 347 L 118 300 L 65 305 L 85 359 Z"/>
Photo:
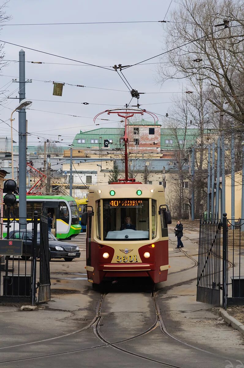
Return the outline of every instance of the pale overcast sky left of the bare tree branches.
<path id="1" fill-rule="evenodd" d="M 28 137 L 28 145 L 38 145 L 38 142 L 46 139 L 59 139 L 65 145 L 71 143 L 80 130 L 116 127 L 116 121 L 121 118 L 115 115 L 111 117 L 104 114 L 101 118 L 109 118 L 111 121 L 97 120 L 96 124 L 100 124 L 97 126 L 93 123 L 96 114 L 130 102 L 129 89 L 118 73 L 109 67 L 115 64 L 131 65 L 162 52 L 165 47 L 165 32 L 164 26 L 158 21 L 164 19 L 170 3 L 171 0 L 10 0 L 6 12 L 12 19 L 2 27 L 0 39 L 21 47 L 7 43 L 4 45 L 4 59 L 11 61 L 0 71 L 0 89 L 6 88 L 6 99 L 3 96 L 0 103 L 1 120 L 9 119 L 11 110 L 18 105 L 18 99 L 7 97 L 18 97 L 18 83 L 12 82 L 12 79 L 18 80 L 19 63 L 14 60 L 18 60 L 19 51 L 23 49 L 26 79 L 32 79 L 32 83 L 26 84 L 26 98 L 33 102 L 31 109 L 26 110 L 28 132 L 32 134 Z M 166 20 L 175 6 L 175 1 L 172 1 Z M 11 25 L 115 21 L 155 22 Z M 105 66 L 110 70 L 84 66 L 76 61 L 28 50 L 26 47 Z M 43 64 L 27 61 L 42 61 Z M 157 57 L 147 63 L 158 62 Z M 168 112 L 172 99 L 176 96 L 172 92 L 180 92 L 182 87 L 176 81 L 167 81 L 163 86 L 158 84 L 157 66 L 158 64 L 138 65 L 124 70 L 123 73 L 133 89 L 146 92 L 140 95 L 141 108 L 158 114 L 159 121 L 162 121 L 162 116 Z M 53 81 L 65 83 L 62 96 L 53 96 Z M 89 105 L 83 105 L 83 102 Z M 133 99 L 132 102 L 136 105 L 137 100 Z M 18 130 L 18 113 L 14 113 L 14 117 L 13 127 Z M 147 120 L 148 116 L 144 115 L 144 118 Z M 0 123 L 0 136 L 10 137 L 10 128 L 5 123 Z M 18 141 L 15 130 L 14 140 Z"/>

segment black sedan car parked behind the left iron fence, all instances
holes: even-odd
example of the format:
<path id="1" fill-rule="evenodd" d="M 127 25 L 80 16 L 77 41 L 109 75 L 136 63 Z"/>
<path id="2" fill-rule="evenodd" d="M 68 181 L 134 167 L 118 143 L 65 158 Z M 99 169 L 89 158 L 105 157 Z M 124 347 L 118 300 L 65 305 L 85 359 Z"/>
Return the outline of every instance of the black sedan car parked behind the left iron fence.
<path id="1" fill-rule="evenodd" d="M 32 256 L 32 232 L 24 230 L 10 231 L 10 239 L 18 239 L 23 241 L 22 256 L 24 260 L 30 259 Z M 49 238 L 49 256 L 52 258 L 64 258 L 66 262 L 71 262 L 74 258 L 80 257 L 80 248 L 74 244 L 59 241 L 52 233 L 48 233 Z M 37 233 L 37 258 L 40 253 L 40 233 Z"/>

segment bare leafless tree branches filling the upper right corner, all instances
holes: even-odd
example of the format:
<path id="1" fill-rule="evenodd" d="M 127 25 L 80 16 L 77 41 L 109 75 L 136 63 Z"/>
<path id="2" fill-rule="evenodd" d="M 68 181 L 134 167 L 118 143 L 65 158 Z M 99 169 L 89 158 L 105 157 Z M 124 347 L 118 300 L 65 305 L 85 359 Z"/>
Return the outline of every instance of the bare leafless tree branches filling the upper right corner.
<path id="1" fill-rule="evenodd" d="M 167 24 L 164 61 L 159 80 L 202 80 L 217 111 L 244 124 L 243 0 L 179 0 Z M 223 21 L 225 19 L 225 21 Z M 219 25 L 222 24 L 220 26 Z M 193 82 L 194 84 L 194 82 Z M 215 93 L 220 95 L 216 99 Z"/>

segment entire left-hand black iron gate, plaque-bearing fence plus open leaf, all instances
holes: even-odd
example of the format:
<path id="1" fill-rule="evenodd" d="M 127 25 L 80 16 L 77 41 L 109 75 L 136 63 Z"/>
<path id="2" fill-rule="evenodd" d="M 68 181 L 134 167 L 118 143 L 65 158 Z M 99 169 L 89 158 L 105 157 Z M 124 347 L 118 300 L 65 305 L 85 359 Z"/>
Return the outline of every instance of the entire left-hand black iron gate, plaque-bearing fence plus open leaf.
<path id="1" fill-rule="evenodd" d="M 13 213 L 10 216 L 4 213 L 3 217 L 0 214 L 0 239 L 8 240 L 5 251 L 0 248 L 0 304 L 21 302 L 35 305 L 37 287 L 38 301 L 50 300 L 47 217 L 39 217 L 38 213 L 34 212 L 32 219 L 25 220 L 25 226 L 20 228 L 19 219 L 14 218 Z M 6 234 L 7 227 L 10 229 L 9 239 Z M 14 240 L 22 240 L 22 251 L 16 252 Z M 39 257 L 40 263 L 36 262 Z M 36 275 L 38 264 L 40 271 L 39 275 Z M 39 278 L 37 287 L 36 278 Z"/>

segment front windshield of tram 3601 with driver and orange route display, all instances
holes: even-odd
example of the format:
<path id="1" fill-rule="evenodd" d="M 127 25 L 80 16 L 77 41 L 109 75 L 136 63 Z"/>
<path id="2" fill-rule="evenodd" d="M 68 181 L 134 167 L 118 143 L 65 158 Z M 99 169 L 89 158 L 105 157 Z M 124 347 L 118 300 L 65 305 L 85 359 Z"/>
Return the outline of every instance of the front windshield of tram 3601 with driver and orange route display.
<path id="1" fill-rule="evenodd" d="M 103 200 L 103 234 L 106 240 L 149 239 L 149 200 Z"/>

